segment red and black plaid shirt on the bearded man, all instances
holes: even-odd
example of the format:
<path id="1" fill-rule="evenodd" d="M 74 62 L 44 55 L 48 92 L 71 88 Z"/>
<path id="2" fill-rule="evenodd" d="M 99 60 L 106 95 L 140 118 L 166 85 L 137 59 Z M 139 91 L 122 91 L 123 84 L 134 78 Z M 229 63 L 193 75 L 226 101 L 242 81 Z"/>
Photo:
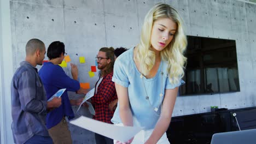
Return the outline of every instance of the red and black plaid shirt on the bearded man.
<path id="1" fill-rule="evenodd" d="M 112 123 L 110 119 L 113 117 L 114 111 L 110 111 L 108 105 L 111 101 L 117 99 L 115 83 L 112 81 L 112 77 L 113 72 L 104 76 L 100 85 L 98 85 L 97 93 L 91 98 L 95 108 L 95 116 L 93 118 L 105 123 Z M 97 83 L 98 81 L 96 85 Z"/>

